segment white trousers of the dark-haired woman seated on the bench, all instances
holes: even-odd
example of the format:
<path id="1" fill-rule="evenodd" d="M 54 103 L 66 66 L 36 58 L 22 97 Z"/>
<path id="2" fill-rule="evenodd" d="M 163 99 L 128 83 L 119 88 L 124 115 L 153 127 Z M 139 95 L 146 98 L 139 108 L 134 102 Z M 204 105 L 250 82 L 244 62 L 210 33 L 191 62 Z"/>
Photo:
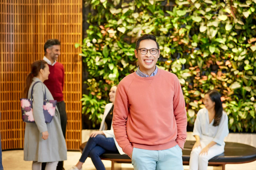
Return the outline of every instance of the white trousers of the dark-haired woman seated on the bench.
<path id="1" fill-rule="evenodd" d="M 207 170 L 208 160 L 222 154 L 224 152 L 224 145 L 215 144 L 208 150 L 208 154 L 199 155 L 201 150 L 205 148 L 212 140 L 201 139 L 200 143 L 202 148 L 199 146 L 194 148 L 190 153 L 189 170 Z"/>

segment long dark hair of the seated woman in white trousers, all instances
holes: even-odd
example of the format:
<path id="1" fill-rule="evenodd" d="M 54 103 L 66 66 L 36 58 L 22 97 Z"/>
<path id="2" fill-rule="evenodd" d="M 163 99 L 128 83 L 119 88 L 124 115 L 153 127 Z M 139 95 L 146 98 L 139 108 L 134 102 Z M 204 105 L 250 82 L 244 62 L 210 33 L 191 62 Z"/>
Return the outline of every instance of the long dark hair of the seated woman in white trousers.
<path id="1" fill-rule="evenodd" d="M 217 90 L 209 90 L 206 94 L 210 96 L 212 102 L 215 102 L 215 116 L 213 126 L 218 126 L 220 124 L 220 119 L 222 117 L 223 107 L 221 101 L 221 95 Z"/>

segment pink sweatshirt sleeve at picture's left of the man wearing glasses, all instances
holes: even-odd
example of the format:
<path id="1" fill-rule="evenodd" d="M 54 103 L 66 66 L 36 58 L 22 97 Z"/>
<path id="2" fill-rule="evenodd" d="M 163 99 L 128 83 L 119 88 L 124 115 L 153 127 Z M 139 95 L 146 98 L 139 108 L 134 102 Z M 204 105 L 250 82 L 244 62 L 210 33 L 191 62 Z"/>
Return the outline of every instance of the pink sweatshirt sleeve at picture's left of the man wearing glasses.
<path id="1" fill-rule="evenodd" d="M 132 153 L 133 147 L 130 143 L 126 132 L 126 120 L 128 117 L 129 100 L 125 86 L 120 81 L 115 96 L 113 123 L 115 139 L 118 145 L 122 148 L 123 152 L 127 155 Z"/>

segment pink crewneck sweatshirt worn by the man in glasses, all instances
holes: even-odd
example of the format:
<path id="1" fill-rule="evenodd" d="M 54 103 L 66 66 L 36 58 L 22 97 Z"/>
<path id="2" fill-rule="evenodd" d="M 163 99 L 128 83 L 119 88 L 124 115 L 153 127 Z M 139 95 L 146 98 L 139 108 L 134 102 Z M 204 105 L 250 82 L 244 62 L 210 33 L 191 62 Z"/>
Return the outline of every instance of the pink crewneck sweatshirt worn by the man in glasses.
<path id="1" fill-rule="evenodd" d="M 115 139 L 124 153 L 133 147 L 164 150 L 179 145 L 187 137 L 185 100 L 179 79 L 158 69 L 155 76 L 136 72 L 118 84 L 113 114 Z"/>

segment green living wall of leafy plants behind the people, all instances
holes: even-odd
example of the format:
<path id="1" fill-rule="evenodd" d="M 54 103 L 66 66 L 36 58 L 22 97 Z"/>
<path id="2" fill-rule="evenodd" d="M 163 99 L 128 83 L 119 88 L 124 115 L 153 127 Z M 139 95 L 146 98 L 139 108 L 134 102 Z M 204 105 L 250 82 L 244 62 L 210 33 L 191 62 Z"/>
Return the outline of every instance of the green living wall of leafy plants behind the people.
<path id="1" fill-rule="evenodd" d="M 175 73 L 186 101 L 188 124 L 209 89 L 222 94 L 229 128 L 256 130 L 256 0 L 87 0 L 89 29 L 81 47 L 89 95 L 83 113 L 101 122 L 108 91 L 136 71 L 135 41 L 154 34 L 160 69 Z"/>

